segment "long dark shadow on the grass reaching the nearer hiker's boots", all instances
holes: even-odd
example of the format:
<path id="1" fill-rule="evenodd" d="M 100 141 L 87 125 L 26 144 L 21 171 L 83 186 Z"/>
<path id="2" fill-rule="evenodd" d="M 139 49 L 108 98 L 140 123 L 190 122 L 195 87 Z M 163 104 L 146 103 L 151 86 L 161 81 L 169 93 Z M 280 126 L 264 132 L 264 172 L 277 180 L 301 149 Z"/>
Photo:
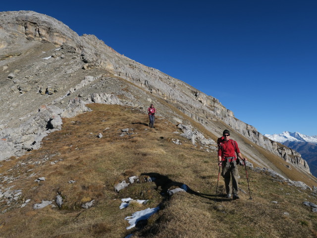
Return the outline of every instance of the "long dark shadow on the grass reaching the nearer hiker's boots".
<path id="1" fill-rule="evenodd" d="M 200 193 L 197 191 L 194 191 L 193 189 L 191 189 L 187 184 L 184 184 L 182 182 L 177 182 L 177 181 L 173 181 L 172 179 L 169 179 L 167 176 L 165 175 L 161 175 L 159 173 L 143 173 L 141 174 L 143 176 L 149 176 L 150 178 L 155 178 L 155 180 L 153 180 L 153 182 L 156 184 L 156 190 L 159 190 L 159 188 L 161 189 L 160 194 L 165 197 L 165 199 L 168 197 L 168 192 L 167 190 L 169 190 L 172 186 L 177 186 L 177 187 L 183 187 L 184 185 L 187 186 L 187 192 L 190 194 L 194 194 L 196 196 L 200 196 L 206 199 L 209 199 L 211 201 L 215 201 L 215 202 L 222 202 L 222 201 L 231 201 L 231 199 L 225 198 L 225 194 L 218 194 L 217 196 L 215 194 L 205 194 L 205 193 Z"/>

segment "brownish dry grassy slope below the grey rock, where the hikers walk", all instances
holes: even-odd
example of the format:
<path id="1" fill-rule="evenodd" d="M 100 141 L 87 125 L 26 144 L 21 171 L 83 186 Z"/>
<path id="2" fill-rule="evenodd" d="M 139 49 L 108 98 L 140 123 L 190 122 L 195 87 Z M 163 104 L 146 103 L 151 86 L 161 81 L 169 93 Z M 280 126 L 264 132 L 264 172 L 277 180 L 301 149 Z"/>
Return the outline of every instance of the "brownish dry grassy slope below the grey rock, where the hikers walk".
<path id="1" fill-rule="evenodd" d="M 1 176 L 17 178 L 10 184 L 2 183 L 2 187 L 15 185 L 14 189 L 23 190 L 24 200 L 32 200 L 24 208 L 16 208 L 21 200 L 11 203 L 0 215 L 0 237 L 123 238 L 131 232 L 133 237 L 158 238 L 317 237 L 317 215 L 302 205 L 305 200 L 317 203 L 310 191 L 249 171 L 252 200 L 244 193 L 235 201 L 216 199 L 215 152 L 193 146 L 173 133 L 176 126 L 163 119 L 157 119 L 156 128 L 151 129 L 145 125 L 147 116 L 137 110 L 97 104 L 90 107 L 93 112 L 64 119 L 63 129 L 50 134 L 41 149 L 1 162 Z M 120 130 L 127 127 L 137 134 L 120 137 Z M 100 132 L 103 137 L 97 138 Z M 172 138 L 183 144 L 172 143 Z M 41 163 L 36 164 L 38 161 Z M 53 161 L 58 162 L 52 165 Z M 248 192 L 244 168 L 239 171 L 240 187 Z M 36 175 L 29 177 L 32 173 Z M 119 193 L 113 191 L 114 184 L 134 175 L 140 176 L 142 183 L 129 185 Z M 158 179 L 143 182 L 148 176 Z M 39 177 L 46 180 L 35 182 Z M 76 182 L 70 184 L 69 180 Z M 166 197 L 166 189 L 182 183 L 193 191 Z M 221 178 L 218 190 L 224 193 Z M 34 203 L 53 200 L 57 194 L 64 198 L 61 209 L 32 208 Z M 119 210 L 120 199 L 127 197 L 150 202 Z M 80 208 L 92 199 L 92 208 Z M 143 229 L 125 230 L 129 225 L 126 216 L 159 204 L 159 213 L 143 224 Z M 1 211 L 7 208 L 6 203 L 0 203 Z"/>

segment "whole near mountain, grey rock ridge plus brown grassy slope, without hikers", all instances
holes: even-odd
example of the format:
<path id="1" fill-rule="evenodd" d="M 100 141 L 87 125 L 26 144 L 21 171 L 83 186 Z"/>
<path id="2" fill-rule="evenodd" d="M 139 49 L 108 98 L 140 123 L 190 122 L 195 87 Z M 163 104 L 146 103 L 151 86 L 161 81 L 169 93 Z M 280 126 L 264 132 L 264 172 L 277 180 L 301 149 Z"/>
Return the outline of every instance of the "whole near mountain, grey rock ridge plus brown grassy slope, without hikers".
<path id="1" fill-rule="evenodd" d="M 0 12 L 0 69 L 1 237 L 316 238 L 307 162 L 216 98 L 33 11 Z M 224 129 L 248 158 L 235 200 Z"/>

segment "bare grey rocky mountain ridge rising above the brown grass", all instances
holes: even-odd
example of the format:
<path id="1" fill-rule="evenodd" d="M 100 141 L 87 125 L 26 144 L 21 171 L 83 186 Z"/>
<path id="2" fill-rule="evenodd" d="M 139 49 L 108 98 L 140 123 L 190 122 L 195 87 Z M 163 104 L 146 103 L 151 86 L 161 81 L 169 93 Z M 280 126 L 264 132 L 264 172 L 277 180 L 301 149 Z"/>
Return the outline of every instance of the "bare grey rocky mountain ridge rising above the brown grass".
<path id="1" fill-rule="evenodd" d="M 217 99 L 120 55 L 93 35 L 78 36 L 52 17 L 32 11 L 1 12 L 0 59 L 1 160 L 38 148 L 38 138 L 58 129 L 61 117 L 85 111 L 85 103 L 146 111 L 154 102 L 159 116 L 181 123 L 186 121 L 184 114 L 211 131 L 214 140 L 228 128 L 243 154 L 261 167 L 286 176 L 258 146 L 310 174 L 298 152 L 236 119 Z M 39 126 L 32 121 L 42 105 L 47 105 L 49 115 Z"/>

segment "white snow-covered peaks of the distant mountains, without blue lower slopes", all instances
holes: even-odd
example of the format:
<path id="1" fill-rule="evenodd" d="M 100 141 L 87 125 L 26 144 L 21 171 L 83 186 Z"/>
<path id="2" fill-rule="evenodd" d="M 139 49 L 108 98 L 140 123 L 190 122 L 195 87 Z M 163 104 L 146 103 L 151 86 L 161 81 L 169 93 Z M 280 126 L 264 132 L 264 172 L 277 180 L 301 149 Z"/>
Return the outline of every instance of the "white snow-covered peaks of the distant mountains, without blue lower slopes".
<path id="1" fill-rule="evenodd" d="M 284 143 L 285 141 L 317 143 L 317 135 L 309 136 L 299 132 L 284 131 L 281 134 L 265 134 L 264 136 L 279 143 Z"/>

